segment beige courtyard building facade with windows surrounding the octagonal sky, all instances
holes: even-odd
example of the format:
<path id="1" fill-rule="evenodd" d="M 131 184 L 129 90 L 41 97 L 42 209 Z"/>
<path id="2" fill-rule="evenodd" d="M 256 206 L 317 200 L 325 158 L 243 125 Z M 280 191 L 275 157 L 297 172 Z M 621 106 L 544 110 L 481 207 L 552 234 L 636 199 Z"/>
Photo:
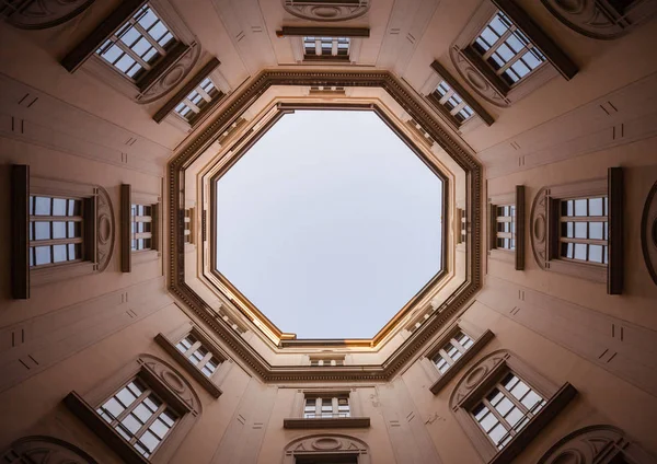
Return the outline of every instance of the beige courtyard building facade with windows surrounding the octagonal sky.
<path id="1" fill-rule="evenodd" d="M 656 10 L 3 2 L 4 461 L 657 462 Z M 217 178 L 335 108 L 445 184 L 441 270 L 371 339 L 214 258 Z"/>

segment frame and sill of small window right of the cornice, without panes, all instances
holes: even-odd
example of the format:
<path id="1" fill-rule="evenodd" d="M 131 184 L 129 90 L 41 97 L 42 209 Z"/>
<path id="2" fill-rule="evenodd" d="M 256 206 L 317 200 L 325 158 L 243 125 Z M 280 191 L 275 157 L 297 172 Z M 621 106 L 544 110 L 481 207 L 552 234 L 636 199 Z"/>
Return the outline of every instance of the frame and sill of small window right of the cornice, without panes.
<path id="1" fill-rule="evenodd" d="M 511 232 L 515 240 L 515 248 L 503 248 L 497 246 L 497 224 L 499 217 L 497 208 L 503 206 L 515 207 L 516 231 Z M 525 269 L 525 221 L 526 201 L 525 186 L 516 185 L 516 190 L 508 194 L 492 195 L 488 197 L 488 256 L 491 259 L 515 263 L 516 270 Z"/>

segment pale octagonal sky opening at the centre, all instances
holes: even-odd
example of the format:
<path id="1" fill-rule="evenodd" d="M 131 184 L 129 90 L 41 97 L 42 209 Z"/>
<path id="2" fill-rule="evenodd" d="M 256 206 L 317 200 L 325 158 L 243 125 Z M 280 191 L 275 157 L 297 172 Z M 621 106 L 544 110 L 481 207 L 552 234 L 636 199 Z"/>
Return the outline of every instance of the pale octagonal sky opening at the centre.
<path id="1" fill-rule="evenodd" d="M 287 114 L 216 187 L 217 270 L 299 338 L 371 338 L 441 269 L 443 183 L 373 112 Z"/>

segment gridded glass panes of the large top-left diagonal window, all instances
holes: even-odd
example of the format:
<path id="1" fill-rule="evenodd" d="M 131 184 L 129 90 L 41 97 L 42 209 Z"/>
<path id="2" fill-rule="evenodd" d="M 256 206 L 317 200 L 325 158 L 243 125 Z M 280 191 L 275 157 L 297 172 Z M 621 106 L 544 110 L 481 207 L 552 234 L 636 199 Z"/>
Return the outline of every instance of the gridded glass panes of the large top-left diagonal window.
<path id="1" fill-rule="evenodd" d="M 137 82 L 176 42 L 171 30 L 147 3 L 105 40 L 96 55 Z"/>

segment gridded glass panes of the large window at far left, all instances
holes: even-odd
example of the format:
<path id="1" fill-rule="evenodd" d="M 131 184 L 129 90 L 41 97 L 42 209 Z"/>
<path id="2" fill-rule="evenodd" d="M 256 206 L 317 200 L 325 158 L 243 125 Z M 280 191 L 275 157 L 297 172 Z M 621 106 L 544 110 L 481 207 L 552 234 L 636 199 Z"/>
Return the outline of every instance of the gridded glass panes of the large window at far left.
<path id="1" fill-rule="evenodd" d="M 30 196 L 30 267 L 83 260 L 83 200 Z"/>

